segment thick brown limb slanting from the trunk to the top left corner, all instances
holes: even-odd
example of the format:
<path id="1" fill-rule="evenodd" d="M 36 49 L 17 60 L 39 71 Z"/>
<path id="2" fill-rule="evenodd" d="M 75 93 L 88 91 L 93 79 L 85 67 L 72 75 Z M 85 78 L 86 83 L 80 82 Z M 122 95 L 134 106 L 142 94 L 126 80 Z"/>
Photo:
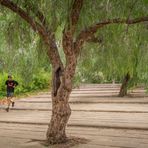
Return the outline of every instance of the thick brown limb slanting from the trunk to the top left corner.
<path id="1" fill-rule="evenodd" d="M 44 42 L 50 47 L 48 49 L 48 56 L 52 65 L 62 65 L 58 48 L 55 42 L 55 35 L 51 30 L 47 30 L 46 26 L 44 26 L 45 19 L 40 11 L 37 11 L 37 17 L 41 22 L 43 21 L 41 24 L 35 21 L 35 19 L 29 16 L 26 11 L 24 11 L 17 4 L 13 3 L 10 0 L 0 0 L 0 4 L 18 14 L 22 19 L 24 19 L 28 24 L 30 24 L 34 31 L 37 31 L 39 33 L 39 35 L 43 38 Z"/>

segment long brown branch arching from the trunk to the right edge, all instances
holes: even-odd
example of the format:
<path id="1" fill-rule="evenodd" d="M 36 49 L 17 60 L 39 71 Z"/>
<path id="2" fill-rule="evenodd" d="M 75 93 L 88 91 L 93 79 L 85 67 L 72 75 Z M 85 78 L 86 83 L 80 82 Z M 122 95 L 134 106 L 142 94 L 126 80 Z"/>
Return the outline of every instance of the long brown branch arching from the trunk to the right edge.
<path id="1" fill-rule="evenodd" d="M 103 28 L 107 25 L 111 24 L 136 24 L 136 23 L 141 23 L 141 22 L 146 22 L 148 21 L 148 16 L 146 17 L 139 17 L 135 19 L 108 19 L 99 23 L 96 23 L 80 32 L 80 34 L 77 36 L 76 41 L 75 41 L 75 49 L 76 49 L 76 54 L 79 55 L 80 48 L 83 46 L 84 42 L 91 39 L 91 37 L 98 31 L 98 29 Z"/>

